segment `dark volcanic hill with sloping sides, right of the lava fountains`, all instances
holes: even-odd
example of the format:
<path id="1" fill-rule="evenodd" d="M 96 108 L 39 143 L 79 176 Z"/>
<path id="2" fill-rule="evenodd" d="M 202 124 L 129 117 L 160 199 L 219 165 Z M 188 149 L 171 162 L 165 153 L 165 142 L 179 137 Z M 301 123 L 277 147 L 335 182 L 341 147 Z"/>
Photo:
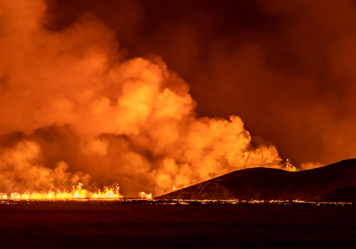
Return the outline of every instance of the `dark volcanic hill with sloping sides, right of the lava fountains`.
<path id="1" fill-rule="evenodd" d="M 356 159 L 296 172 L 246 168 L 154 199 L 356 202 Z"/>

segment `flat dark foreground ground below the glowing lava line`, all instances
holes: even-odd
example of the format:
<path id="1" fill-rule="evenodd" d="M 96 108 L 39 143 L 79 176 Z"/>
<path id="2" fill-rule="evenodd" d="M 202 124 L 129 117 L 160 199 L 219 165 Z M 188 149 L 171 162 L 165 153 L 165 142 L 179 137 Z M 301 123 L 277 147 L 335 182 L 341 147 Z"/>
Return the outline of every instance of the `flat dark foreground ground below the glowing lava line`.
<path id="1" fill-rule="evenodd" d="M 2 201 L 0 248 L 356 248 L 354 204 L 163 203 Z"/>

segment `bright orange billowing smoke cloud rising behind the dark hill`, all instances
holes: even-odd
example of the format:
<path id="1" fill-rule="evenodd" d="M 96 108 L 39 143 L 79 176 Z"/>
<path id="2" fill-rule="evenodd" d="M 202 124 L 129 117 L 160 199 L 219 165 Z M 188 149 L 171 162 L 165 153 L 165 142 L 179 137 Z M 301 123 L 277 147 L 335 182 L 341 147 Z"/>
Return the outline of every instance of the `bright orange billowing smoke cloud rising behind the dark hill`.
<path id="1" fill-rule="evenodd" d="M 0 5 L 0 192 L 117 182 L 124 196 L 157 195 L 280 167 L 239 117 L 196 118 L 189 86 L 159 57 L 122 60 L 95 17 L 48 31 L 43 1 Z"/>

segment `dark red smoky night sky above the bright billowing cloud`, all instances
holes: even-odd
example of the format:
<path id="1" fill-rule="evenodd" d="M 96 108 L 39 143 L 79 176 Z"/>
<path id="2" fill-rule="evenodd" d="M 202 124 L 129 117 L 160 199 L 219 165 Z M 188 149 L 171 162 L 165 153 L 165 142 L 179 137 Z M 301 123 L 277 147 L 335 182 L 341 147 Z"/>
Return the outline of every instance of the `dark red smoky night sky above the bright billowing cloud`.
<path id="1" fill-rule="evenodd" d="M 240 116 L 299 169 L 356 157 L 354 0 L 57 2 L 52 30 L 95 12 L 130 57 L 189 82 L 199 115 Z"/>

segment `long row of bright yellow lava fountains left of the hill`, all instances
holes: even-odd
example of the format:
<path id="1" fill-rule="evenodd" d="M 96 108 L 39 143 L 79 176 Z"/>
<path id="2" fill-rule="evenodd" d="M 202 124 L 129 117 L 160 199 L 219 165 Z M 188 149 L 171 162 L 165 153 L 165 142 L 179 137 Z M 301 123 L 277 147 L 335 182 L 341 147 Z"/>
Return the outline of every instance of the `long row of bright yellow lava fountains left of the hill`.
<path id="1" fill-rule="evenodd" d="M 78 185 L 73 186 L 73 190 L 67 191 L 48 191 L 44 193 L 39 192 L 27 192 L 27 193 L 17 193 L 13 192 L 10 194 L 0 193 L 0 199 L 20 199 L 20 200 L 43 200 L 43 199 L 83 199 L 83 198 L 105 198 L 105 199 L 118 199 L 123 196 L 119 192 L 119 186 L 117 183 L 111 187 L 104 187 L 103 191 L 91 192 L 83 189 L 83 184 L 78 183 Z M 152 195 L 151 195 L 152 198 Z"/>

